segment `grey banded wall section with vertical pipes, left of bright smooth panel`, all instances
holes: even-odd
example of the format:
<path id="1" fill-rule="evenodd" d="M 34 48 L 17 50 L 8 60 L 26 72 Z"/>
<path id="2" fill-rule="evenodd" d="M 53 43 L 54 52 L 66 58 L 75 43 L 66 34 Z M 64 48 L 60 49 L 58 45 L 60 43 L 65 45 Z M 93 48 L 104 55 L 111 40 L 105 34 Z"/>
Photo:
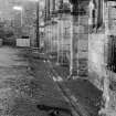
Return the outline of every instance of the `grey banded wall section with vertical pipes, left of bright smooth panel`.
<path id="1" fill-rule="evenodd" d="M 73 4 L 73 3 L 72 3 Z M 88 15 L 78 14 L 78 4 L 72 6 L 71 33 L 71 77 L 85 77 L 88 74 Z"/>

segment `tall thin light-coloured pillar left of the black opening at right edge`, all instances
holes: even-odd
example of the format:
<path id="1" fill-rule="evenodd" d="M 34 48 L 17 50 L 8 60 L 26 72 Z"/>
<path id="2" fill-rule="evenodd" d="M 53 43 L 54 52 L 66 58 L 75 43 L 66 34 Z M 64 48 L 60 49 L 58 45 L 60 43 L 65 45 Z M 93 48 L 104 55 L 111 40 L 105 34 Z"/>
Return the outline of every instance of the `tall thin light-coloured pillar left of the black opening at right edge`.
<path id="1" fill-rule="evenodd" d="M 108 29 L 108 15 L 109 15 L 109 9 L 108 9 L 108 6 L 107 6 L 107 2 L 104 2 L 103 1 L 103 23 L 105 24 L 105 41 L 104 41 L 104 77 L 103 77 L 103 106 L 99 110 L 99 115 L 107 115 L 108 113 L 108 109 L 109 109 L 109 104 L 110 104 L 110 89 L 109 89 L 109 77 L 110 77 L 110 71 L 109 68 L 107 68 L 107 63 L 108 63 L 108 35 L 109 35 L 109 29 Z M 107 115 L 108 116 L 108 115 Z"/>

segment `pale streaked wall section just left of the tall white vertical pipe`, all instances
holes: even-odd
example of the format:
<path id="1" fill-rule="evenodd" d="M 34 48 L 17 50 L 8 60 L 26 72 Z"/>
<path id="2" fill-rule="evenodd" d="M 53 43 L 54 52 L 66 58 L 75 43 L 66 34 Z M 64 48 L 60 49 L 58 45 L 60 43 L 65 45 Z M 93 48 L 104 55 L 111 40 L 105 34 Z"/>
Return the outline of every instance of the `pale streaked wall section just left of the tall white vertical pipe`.
<path id="1" fill-rule="evenodd" d="M 62 15 L 55 24 L 45 27 L 45 44 L 48 52 L 70 51 L 71 45 L 71 15 Z"/>

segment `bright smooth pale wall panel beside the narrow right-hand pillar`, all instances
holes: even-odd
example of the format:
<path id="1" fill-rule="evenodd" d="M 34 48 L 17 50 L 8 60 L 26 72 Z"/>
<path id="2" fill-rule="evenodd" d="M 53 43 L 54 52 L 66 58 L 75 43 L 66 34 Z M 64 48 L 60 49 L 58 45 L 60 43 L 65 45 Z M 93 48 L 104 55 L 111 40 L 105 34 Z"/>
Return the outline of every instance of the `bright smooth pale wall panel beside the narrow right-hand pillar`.
<path id="1" fill-rule="evenodd" d="M 89 81 L 102 89 L 105 74 L 105 34 L 89 34 L 88 38 L 88 72 Z"/>

